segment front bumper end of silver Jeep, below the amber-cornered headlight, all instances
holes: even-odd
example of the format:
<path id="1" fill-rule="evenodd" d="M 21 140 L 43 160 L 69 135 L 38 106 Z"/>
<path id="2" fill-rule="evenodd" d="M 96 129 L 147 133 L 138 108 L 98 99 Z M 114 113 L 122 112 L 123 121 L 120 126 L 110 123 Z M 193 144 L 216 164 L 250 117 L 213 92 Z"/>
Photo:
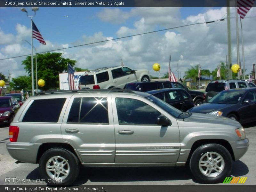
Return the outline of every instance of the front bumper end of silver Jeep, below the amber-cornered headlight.
<path id="1" fill-rule="evenodd" d="M 229 144 L 233 149 L 235 161 L 240 159 L 242 156 L 244 156 L 244 154 L 249 148 L 249 140 L 247 138 L 240 141 L 232 141 L 232 142 L 229 142 Z"/>

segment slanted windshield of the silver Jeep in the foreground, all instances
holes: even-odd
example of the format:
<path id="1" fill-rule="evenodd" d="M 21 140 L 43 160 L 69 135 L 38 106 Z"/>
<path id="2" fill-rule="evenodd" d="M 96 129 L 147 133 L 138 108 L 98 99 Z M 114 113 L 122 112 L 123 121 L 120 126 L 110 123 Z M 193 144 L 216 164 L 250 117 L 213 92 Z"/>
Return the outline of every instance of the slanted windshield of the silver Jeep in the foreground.
<path id="1" fill-rule="evenodd" d="M 151 102 L 155 103 L 156 105 L 158 105 L 160 108 L 164 109 L 167 113 L 171 114 L 172 116 L 178 118 L 178 116 L 180 114 L 182 114 L 182 112 L 179 109 L 176 109 L 174 107 L 172 107 L 171 105 L 165 103 L 164 101 L 156 98 L 153 95 L 150 95 L 148 97 L 146 97 L 148 100 L 150 100 Z"/>

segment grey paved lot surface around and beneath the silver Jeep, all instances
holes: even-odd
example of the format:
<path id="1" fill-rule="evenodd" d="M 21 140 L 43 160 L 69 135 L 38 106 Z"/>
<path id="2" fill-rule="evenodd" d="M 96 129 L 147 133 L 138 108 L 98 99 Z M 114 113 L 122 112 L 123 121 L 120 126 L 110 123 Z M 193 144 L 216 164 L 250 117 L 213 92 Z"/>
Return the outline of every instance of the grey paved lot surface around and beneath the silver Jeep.
<path id="1" fill-rule="evenodd" d="M 244 125 L 250 140 L 247 153 L 233 163 L 233 176 L 248 177 L 244 185 L 255 185 L 256 122 Z M 8 127 L 0 127 L 0 185 L 46 185 L 40 181 L 38 165 L 15 164 L 6 150 Z M 28 179 L 34 183 L 13 183 L 5 178 Z M 5 182 L 7 181 L 7 182 Z M 81 168 L 76 185 L 201 185 L 192 179 L 188 167 Z M 219 185 L 224 185 L 220 183 Z"/>

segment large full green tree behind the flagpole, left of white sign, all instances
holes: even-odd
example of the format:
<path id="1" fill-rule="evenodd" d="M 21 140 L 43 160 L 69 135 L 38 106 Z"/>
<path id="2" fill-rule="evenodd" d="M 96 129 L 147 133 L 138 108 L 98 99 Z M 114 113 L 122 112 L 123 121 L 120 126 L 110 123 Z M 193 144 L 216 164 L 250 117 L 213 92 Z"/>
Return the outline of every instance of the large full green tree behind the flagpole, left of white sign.
<path id="1" fill-rule="evenodd" d="M 35 62 L 35 59 L 34 59 Z M 44 79 L 45 86 L 41 87 L 42 90 L 56 89 L 59 87 L 59 74 L 68 71 L 68 65 L 74 66 L 76 60 L 70 60 L 62 57 L 62 53 L 44 53 L 37 54 L 37 77 Z M 25 65 L 25 70 L 31 76 L 31 56 L 22 61 Z M 36 77 L 36 69 L 34 64 L 34 77 Z M 36 78 L 34 78 L 36 79 Z M 35 87 L 36 87 L 35 82 Z"/>

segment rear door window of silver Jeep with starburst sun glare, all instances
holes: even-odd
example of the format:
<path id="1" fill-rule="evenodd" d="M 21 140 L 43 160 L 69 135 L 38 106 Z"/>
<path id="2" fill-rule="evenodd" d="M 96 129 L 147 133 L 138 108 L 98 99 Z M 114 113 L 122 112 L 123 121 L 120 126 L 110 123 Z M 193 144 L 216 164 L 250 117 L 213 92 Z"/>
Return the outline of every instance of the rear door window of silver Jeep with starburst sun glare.
<path id="1" fill-rule="evenodd" d="M 108 124 L 107 98 L 75 98 L 68 114 L 68 123 Z"/>

